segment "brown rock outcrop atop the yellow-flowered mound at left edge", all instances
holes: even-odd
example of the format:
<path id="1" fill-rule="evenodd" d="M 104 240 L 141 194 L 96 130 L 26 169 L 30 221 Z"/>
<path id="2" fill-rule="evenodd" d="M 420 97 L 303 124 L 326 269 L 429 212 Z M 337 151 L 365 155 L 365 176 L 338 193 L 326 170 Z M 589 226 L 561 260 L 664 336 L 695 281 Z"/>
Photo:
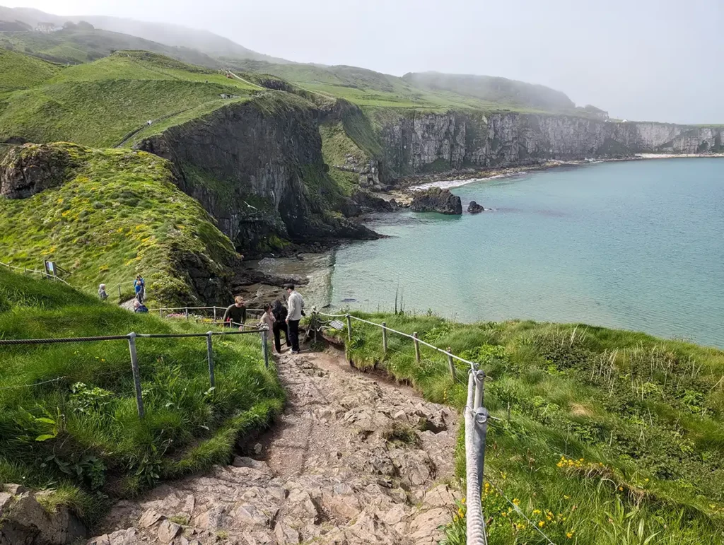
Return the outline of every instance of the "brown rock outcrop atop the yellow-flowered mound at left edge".
<path id="1" fill-rule="evenodd" d="M 64 182 L 71 166 L 68 153 L 50 145 L 11 148 L 0 161 L 0 196 L 28 198 Z"/>

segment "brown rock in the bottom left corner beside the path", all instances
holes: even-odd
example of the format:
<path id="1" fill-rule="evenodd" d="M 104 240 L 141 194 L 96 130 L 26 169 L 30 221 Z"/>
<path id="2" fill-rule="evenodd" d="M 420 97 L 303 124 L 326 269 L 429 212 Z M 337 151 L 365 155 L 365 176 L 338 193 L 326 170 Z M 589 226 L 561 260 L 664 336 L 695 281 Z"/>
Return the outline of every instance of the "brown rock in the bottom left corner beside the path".
<path id="1" fill-rule="evenodd" d="M 67 545 L 88 534 L 72 512 L 49 513 L 35 494 L 17 484 L 0 485 L 0 545 Z"/>

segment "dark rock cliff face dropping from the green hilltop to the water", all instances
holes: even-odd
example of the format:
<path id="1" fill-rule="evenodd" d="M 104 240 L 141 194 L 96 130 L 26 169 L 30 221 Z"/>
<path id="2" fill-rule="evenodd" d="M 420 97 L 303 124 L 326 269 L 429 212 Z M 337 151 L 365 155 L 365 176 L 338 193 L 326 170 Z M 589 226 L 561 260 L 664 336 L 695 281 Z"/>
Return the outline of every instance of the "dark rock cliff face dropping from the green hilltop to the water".
<path id="1" fill-rule="evenodd" d="M 265 93 L 170 127 L 138 148 L 169 159 L 239 250 L 284 240 L 373 238 L 340 213 L 348 198 L 327 174 L 319 111 L 289 93 Z"/>

